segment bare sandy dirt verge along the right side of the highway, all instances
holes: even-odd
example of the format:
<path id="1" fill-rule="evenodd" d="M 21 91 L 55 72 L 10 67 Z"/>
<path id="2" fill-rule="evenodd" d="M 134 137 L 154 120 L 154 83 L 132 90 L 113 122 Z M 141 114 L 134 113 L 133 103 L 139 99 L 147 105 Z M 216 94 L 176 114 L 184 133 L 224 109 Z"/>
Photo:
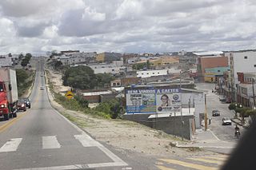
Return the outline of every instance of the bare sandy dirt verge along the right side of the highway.
<path id="1" fill-rule="evenodd" d="M 55 90 L 58 92 L 70 89 L 62 85 L 61 75 L 50 71 L 47 75 L 54 82 Z M 84 129 L 93 136 L 94 139 L 110 144 L 120 152 L 141 152 L 147 156 L 196 156 L 213 154 L 198 148 L 177 148 L 174 147 L 175 141 L 181 141 L 164 132 L 148 128 L 144 125 L 132 121 L 106 120 L 90 115 L 63 109 L 61 105 L 52 102 L 55 109 L 68 117 L 74 124 Z"/>

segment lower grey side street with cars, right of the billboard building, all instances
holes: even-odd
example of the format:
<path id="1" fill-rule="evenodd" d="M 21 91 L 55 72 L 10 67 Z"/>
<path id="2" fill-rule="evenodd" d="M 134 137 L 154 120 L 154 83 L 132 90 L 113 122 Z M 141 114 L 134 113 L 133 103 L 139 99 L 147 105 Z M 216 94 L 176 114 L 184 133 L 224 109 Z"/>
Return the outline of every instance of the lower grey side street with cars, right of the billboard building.
<path id="1" fill-rule="evenodd" d="M 234 113 L 228 109 L 229 104 L 219 101 L 219 95 L 211 92 L 211 90 L 214 89 L 214 84 L 198 83 L 196 86 L 197 89 L 208 91 L 206 94 L 207 113 L 208 118 L 212 119 L 208 128 L 210 128 L 210 130 L 214 132 L 220 140 L 237 141 L 234 137 L 235 124 L 232 122 L 232 125 L 222 125 L 222 117 L 234 117 Z M 220 117 L 212 117 L 212 110 L 214 109 L 218 109 L 220 111 Z M 241 129 L 242 135 L 244 129 L 240 126 L 239 128 Z"/>

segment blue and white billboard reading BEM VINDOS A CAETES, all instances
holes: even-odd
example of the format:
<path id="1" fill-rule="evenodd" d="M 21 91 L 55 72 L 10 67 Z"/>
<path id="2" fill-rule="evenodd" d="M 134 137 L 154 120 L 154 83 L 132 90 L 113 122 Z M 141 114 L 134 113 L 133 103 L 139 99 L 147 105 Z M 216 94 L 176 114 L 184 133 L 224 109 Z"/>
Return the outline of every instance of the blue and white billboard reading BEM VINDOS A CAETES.
<path id="1" fill-rule="evenodd" d="M 180 89 L 126 90 L 126 113 L 173 113 L 180 110 Z"/>

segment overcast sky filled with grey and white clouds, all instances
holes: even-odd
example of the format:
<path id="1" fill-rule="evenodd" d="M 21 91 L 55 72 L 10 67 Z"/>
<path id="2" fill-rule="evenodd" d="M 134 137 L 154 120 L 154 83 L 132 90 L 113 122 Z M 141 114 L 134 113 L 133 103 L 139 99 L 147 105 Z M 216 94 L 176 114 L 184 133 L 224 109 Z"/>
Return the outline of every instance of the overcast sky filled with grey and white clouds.
<path id="1" fill-rule="evenodd" d="M 1 0 L 0 53 L 256 49 L 254 0 Z"/>

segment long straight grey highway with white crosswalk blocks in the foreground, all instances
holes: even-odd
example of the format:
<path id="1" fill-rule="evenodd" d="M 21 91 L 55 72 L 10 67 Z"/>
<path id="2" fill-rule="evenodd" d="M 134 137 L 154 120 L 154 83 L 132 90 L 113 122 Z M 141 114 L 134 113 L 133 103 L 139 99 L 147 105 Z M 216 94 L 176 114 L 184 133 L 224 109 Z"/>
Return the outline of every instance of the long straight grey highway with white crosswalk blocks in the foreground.
<path id="1" fill-rule="evenodd" d="M 1 122 L 0 169 L 149 169 L 152 166 L 146 164 L 154 163 L 149 158 L 143 161 L 130 158 L 99 143 L 54 110 L 46 89 L 41 90 L 46 86 L 43 65 L 43 61 L 38 61 L 30 95 L 31 109 Z"/>

